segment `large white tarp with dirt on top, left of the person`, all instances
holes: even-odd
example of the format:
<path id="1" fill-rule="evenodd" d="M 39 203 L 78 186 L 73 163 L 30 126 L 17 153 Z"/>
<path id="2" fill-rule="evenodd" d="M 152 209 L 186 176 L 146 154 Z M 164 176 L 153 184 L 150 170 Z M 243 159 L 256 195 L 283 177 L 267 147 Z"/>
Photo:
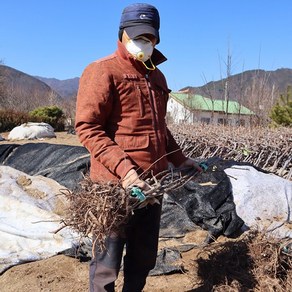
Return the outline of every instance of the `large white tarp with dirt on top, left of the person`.
<path id="1" fill-rule="evenodd" d="M 0 273 L 19 263 L 73 247 L 78 236 L 61 227 L 66 201 L 54 180 L 0 166 Z"/>

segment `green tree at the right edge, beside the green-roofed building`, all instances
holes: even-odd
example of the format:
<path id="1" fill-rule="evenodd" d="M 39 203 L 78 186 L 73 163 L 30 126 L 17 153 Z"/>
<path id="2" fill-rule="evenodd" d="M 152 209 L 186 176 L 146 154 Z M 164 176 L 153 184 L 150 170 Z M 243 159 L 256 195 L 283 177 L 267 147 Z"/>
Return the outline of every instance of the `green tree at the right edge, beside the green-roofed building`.
<path id="1" fill-rule="evenodd" d="M 286 93 L 280 95 L 271 109 L 270 118 L 275 125 L 292 126 L 292 86 L 288 86 Z"/>

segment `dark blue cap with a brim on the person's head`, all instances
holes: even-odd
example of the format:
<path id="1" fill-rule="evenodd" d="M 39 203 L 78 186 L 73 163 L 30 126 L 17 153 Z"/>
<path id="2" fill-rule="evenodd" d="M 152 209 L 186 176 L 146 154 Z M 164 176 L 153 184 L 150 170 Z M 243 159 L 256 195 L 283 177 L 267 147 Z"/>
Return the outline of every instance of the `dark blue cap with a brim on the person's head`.
<path id="1" fill-rule="evenodd" d="M 159 13 L 154 6 L 136 3 L 123 10 L 120 30 L 125 29 L 131 39 L 141 34 L 151 34 L 156 37 L 157 43 L 159 43 L 159 28 Z"/>

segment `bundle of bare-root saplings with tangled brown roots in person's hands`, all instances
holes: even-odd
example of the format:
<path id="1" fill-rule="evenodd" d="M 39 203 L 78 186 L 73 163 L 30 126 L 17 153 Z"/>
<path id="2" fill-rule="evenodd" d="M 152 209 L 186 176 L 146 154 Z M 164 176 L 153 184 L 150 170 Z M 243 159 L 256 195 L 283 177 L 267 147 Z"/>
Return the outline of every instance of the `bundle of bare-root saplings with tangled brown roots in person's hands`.
<path id="1" fill-rule="evenodd" d="M 68 200 L 63 227 L 70 227 L 80 233 L 81 237 L 91 237 L 104 249 L 106 238 L 116 232 L 123 232 L 121 226 L 136 209 L 147 204 L 160 204 L 165 192 L 184 185 L 197 172 L 192 169 L 187 172 L 166 170 L 156 176 L 144 174 L 150 189 L 140 193 L 139 189 L 136 192 L 133 192 L 133 188 L 124 189 L 119 183 L 93 183 L 86 176 L 78 188 L 62 190 Z M 141 199 L 138 195 L 144 197 Z"/>

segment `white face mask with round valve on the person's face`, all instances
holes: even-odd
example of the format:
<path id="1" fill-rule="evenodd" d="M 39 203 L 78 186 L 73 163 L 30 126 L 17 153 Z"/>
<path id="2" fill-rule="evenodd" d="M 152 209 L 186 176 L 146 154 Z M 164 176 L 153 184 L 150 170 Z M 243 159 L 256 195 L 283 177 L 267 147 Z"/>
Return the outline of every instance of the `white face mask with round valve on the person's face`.
<path id="1" fill-rule="evenodd" d="M 140 36 L 136 39 L 131 39 L 126 43 L 127 51 L 137 60 L 146 62 L 150 59 L 154 46 L 146 37 Z"/>

